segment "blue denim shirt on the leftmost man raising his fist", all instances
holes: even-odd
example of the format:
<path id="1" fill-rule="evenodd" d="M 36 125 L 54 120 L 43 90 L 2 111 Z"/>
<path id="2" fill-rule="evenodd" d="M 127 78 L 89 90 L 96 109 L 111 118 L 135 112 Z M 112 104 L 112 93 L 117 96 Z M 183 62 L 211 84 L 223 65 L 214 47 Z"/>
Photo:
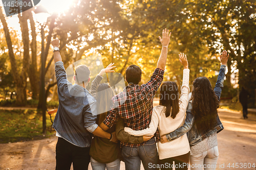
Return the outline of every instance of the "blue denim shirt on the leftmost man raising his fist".
<path id="1" fill-rule="evenodd" d="M 78 147 L 90 147 L 96 124 L 96 100 L 89 91 L 67 79 L 62 61 L 55 63 L 59 107 L 53 128 L 65 140 Z"/>

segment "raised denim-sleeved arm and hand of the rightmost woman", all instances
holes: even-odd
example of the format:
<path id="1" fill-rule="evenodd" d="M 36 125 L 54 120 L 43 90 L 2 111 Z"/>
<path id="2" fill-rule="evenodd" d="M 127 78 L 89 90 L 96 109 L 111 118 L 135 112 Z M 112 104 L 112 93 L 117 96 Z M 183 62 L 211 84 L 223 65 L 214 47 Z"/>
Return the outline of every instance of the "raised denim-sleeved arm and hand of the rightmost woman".
<path id="1" fill-rule="evenodd" d="M 229 54 L 227 55 L 227 51 L 223 51 L 222 55 L 220 55 L 221 59 L 221 68 L 218 75 L 218 79 L 214 88 L 215 94 L 218 96 L 218 99 L 220 101 L 221 97 L 221 91 L 223 89 L 223 83 L 225 78 L 225 71 L 226 71 L 226 64 L 228 60 Z"/>

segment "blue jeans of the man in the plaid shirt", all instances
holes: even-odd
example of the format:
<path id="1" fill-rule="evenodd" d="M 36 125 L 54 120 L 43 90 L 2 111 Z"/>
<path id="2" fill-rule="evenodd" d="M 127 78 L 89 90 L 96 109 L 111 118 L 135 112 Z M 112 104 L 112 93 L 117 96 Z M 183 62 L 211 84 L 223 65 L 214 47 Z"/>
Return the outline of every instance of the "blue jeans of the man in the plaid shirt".
<path id="1" fill-rule="evenodd" d="M 155 138 L 151 138 L 146 144 L 140 147 L 123 147 L 122 156 L 125 163 L 125 170 L 140 170 L 140 161 L 142 161 L 145 170 L 154 169 L 150 168 L 149 164 L 158 164 Z"/>

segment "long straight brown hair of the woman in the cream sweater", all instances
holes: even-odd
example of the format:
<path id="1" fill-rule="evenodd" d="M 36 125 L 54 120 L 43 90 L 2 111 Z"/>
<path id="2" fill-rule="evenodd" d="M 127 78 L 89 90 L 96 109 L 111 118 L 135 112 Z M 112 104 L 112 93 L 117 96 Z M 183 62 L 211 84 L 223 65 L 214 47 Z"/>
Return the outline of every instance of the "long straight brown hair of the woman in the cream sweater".
<path id="1" fill-rule="evenodd" d="M 170 117 L 175 118 L 179 113 L 179 90 L 175 82 L 163 82 L 160 87 L 160 102 L 159 105 L 165 106 L 165 116 L 170 115 L 172 109 L 172 115 Z"/>

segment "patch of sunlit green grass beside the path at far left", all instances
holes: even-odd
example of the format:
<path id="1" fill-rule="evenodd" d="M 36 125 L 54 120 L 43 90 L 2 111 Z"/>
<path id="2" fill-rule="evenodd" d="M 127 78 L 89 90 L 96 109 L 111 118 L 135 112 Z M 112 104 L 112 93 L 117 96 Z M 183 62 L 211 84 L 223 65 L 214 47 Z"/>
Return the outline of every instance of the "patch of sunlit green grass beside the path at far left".
<path id="1" fill-rule="evenodd" d="M 50 133 L 52 123 L 47 114 L 47 134 L 42 134 L 42 112 L 39 110 L 0 110 L 0 113 L 0 143 L 41 139 L 55 132 Z"/>

